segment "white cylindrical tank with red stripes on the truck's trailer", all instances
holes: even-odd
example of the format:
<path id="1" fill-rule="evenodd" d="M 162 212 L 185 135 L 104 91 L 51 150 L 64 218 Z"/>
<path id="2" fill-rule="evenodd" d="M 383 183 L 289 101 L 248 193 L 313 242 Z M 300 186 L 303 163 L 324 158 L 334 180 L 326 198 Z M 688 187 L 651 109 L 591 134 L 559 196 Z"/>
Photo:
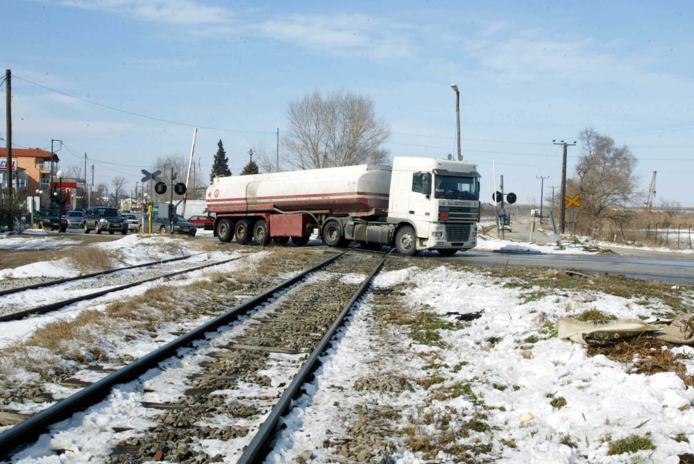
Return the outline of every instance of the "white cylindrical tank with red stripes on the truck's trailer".
<path id="1" fill-rule="evenodd" d="M 281 173 L 231 175 L 208 187 L 208 210 L 239 212 L 313 211 L 349 216 L 385 214 L 391 166 L 360 164 Z"/>

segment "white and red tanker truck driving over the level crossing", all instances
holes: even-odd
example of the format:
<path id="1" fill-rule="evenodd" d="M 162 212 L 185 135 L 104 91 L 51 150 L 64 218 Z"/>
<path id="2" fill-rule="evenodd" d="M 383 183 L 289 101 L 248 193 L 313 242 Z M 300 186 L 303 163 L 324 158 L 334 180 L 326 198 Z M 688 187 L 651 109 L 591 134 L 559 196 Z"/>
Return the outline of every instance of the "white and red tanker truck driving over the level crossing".
<path id="1" fill-rule="evenodd" d="M 477 244 L 480 174 L 467 162 L 395 157 L 362 164 L 216 178 L 205 192 L 214 235 L 260 246 L 391 246 L 450 256 Z"/>

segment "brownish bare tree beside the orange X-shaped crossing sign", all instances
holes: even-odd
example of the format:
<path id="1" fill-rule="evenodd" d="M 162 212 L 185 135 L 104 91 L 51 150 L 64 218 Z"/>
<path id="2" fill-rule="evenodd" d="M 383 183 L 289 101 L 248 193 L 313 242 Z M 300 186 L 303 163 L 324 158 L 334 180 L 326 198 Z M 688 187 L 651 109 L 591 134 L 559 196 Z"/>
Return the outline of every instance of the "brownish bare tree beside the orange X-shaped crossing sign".
<path id="1" fill-rule="evenodd" d="M 593 128 L 579 134 L 583 151 L 576 165 L 577 178 L 571 183 L 574 194 L 581 195 L 577 222 L 582 232 L 602 232 L 608 225 L 621 229 L 630 214 L 627 206 L 638 203 L 638 160 L 627 146 L 616 146 L 607 135 Z"/>

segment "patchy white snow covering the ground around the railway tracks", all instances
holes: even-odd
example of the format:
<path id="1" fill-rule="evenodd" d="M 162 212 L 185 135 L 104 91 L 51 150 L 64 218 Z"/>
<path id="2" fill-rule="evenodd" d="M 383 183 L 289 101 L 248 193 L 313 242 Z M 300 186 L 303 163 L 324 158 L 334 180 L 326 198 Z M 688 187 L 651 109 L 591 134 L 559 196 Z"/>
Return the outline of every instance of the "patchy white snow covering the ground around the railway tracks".
<path id="1" fill-rule="evenodd" d="M 22 247 L 33 246 L 33 240 L 35 238 L 11 241 L 15 246 Z M 165 245 L 164 242 L 168 240 L 178 239 L 139 239 L 132 235 L 99 246 L 117 250 L 126 262 L 135 264 L 142 261 L 144 255 L 148 259 L 152 256 L 156 256 L 156 259 L 174 257 L 167 255 L 167 249 L 171 248 L 154 246 L 154 243 Z M 0 243 L 6 246 L 1 240 Z M 46 243 L 42 246 L 46 246 Z M 69 243 L 60 246 L 69 246 Z M 555 250 L 553 246 L 519 245 L 486 238 L 480 240 L 483 250 L 516 251 L 516 247 L 525 252 L 566 252 Z M 153 252 L 155 249 L 158 251 Z M 3 277 L 15 274 L 15 277 L 46 275 L 46 269 L 55 265 L 53 261 L 35 263 L 22 266 L 22 270 L 5 270 Z M 69 267 L 69 264 L 61 263 L 60 266 Z M 242 264 L 233 261 L 225 266 L 231 269 Z M 200 277 L 198 273 L 189 280 Z M 392 330 L 390 338 L 376 337 L 373 297 L 366 298 L 341 333 L 335 350 L 325 356 L 323 367 L 316 372 L 316 379 L 306 389 L 307 394 L 296 400 L 298 407 L 285 418 L 291 427 L 282 433 L 269 456 L 269 462 L 294 462 L 306 449 L 312 450 L 316 462 L 324 462 L 323 440 L 328 438 L 328 430 L 331 433 L 344 433 L 342 419 L 364 402 L 395 407 L 403 418 L 403 423 L 398 427 L 404 426 L 407 420 L 421 420 L 426 413 L 445 411 L 446 407 L 457 411 L 460 415 L 457 420 L 463 420 L 482 402 L 491 431 L 480 439 L 491 440 L 493 449 L 498 453 L 496 462 L 500 463 L 675 464 L 679 462 L 677 455 L 694 453 L 694 431 L 691 429 L 694 423 L 694 408 L 691 407 L 694 404 L 694 388 L 684 386 L 674 373 L 650 376 L 634 374 L 629 372 L 628 366 L 609 361 L 604 356 L 587 356 L 586 347 L 582 345 L 541 334 L 543 324 L 556 323 L 558 318 L 575 315 L 591 307 L 617 318 L 652 316 L 638 300 L 591 292 L 591 296 L 595 297 L 593 300 L 579 298 L 581 295 L 574 292 L 558 291 L 555 295 L 523 304 L 519 289 L 507 288 L 504 282 L 488 275 L 451 270 L 445 266 L 385 272 L 377 277 L 375 286 L 387 288 L 404 282 L 414 282 L 414 286 L 403 290 L 402 302 L 407 307 L 416 309 L 425 304 L 435 313 L 449 318 L 446 316 L 449 311 L 480 311 L 482 316 L 465 323 L 460 329 L 443 331 L 448 343 L 446 348 L 430 347 L 414 343 L 407 338 L 407 332 L 398 332 L 398 329 Z M 118 298 L 128 298 L 141 292 L 142 289 L 123 291 Z M 103 304 L 106 302 L 99 302 L 96 306 L 91 304 L 90 308 Z M 66 309 L 61 311 L 60 316 L 42 318 L 69 317 L 69 311 Z M 12 342 L 12 337 L 7 334 L 25 338 L 33 331 L 37 320 L 42 318 L 3 323 L 0 345 Z M 538 335 L 539 341 L 527 341 L 529 337 Z M 149 337 L 128 342 L 132 345 L 122 343 L 128 352 L 144 353 L 153 347 L 153 340 Z M 691 347 L 677 347 L 674 350 L 689 356 L 694 354 Z M 468 385 L 477 397 L 477 403 L 468 395 L 432 399 L 428 392 L 421 389 L 398 395 L 355 390 L 355 381 L 369 375 L 416 378 L 436 374 L 423 370 L 425 361 L 419 355 L 421 353 L 440 356 L 441 365 L 448 366 L 440 368 L 439 373 L 446 378 L 443 385 Z M 454 366 L 459 368 L 455 369 Z M 691 361 L 686 361 L 686 366 L 690 372 L 694 372 Z M 186 365 L 181 369 L 183 372 L 193 368 Z M 177 375 L 183 375 L 181 372 Z M 272 372 L 266 374 L 272 377 Z M 146 384 L 169 384 L 171 397 L 165 399 L 174 399 L 184 390 L 178 379 L 180 377 L 171 379 L 171 372 L 152 371 L 148 374 Z M 96 406 L 99 413 L 92 409 L 92 412 L 87 411 L 58 424 L 53 429 L 52 439 L 47 435 L 42 436 L 35 445 L 17 454 L 11 462 L 103 462 L 110 446 L 122 438 L 121 433 L 114 432 L 112 427 L 130 427 L 134 430 L 149 427 L 146 414 L 150 412 L 142 408 L 142 394 L 137 393 L 141 388 L 142 385 L 137 382 L 119 387 L 110 399 Z M 550 404 L 552 399 L 558 397 L 566 400 L 565 406 L 557 408 Z M 22 408 L 22 405 L 15 406 Z M 77 428 L 68 429 L 68 426 Z M 426 427 L 421 431 L 436 433 L 434 429 Z M 489 433 L 493 437 L 490 438 Z M 619 439 L 634 434 L 650 438 L 656 449 L 636 455 L 608 456 L 607 438 Z M 676 437 L 678 440 L 675 440 Z M 409 451 L 403 446 L 402 434 L 388 439 L 398 443 L 393 454 L 397 463 L 448 462 L 449 458 L 443 454 L 439 454 L 434 461 L 427 461 L 421 454 Z M 506 443 L 513 442 L 515 447 L 502 446 L 502 439 L 507 440 Z M 211 454 L 228 449 L 228 444 L 214 440 L 205 442 L 203 446 Z M 56 447 L 68 449 L 69 452 L 58 458 L 50 452 Z M 223 462 L 234 461 L 225 459 Z"/>

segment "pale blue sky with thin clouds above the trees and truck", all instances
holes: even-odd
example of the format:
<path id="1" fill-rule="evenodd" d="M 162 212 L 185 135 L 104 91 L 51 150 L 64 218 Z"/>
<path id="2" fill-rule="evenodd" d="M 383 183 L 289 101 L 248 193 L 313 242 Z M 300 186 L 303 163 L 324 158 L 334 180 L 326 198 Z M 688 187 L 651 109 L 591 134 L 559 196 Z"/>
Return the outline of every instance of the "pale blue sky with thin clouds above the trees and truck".
<path id="1" fill-rule="evenodd" d="M 239 173 L 252 146 L 274 153 L 288 103 L 313 89 L 369 96 L 393 132 L 393 156 L 455 155 L 457 83 L 462 155 L 478 163 L 484 200 L 496 166 L 507 192 L 539 206 L 537 176 L 549 176 L 545 194 L 561 181 L 552 139 L 593 127 L 629 146 L 644 191 L 658 171 L 656 203 L 692 207 L 693 10 L 688 1 L 12 0 L 0 62 L 14 76 L 15 146 L 60 139 L 61 168 L 87 153 L 95 181 L 109 186 L 124 176 L 133 189 L 157 157 L 187 157 L 195 127 L 205 177 L 219 139 Z M 580 153 L 568 148 L 568 175 Z"/>

